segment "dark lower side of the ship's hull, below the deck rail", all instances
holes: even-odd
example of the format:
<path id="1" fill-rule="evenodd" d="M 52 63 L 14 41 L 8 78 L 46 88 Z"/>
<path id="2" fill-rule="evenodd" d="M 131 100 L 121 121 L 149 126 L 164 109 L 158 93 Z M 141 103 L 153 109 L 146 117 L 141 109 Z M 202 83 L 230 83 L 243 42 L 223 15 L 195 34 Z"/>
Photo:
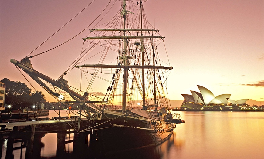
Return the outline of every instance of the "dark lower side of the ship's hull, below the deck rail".
<path id="1" fill-rule="evenodd" d="M 102 153 L 114 154 L 159 145 L 168 140 L 173 132 L 152 132 L 131 127 L 111 127 L 98 130 L 96 133 Z"/>

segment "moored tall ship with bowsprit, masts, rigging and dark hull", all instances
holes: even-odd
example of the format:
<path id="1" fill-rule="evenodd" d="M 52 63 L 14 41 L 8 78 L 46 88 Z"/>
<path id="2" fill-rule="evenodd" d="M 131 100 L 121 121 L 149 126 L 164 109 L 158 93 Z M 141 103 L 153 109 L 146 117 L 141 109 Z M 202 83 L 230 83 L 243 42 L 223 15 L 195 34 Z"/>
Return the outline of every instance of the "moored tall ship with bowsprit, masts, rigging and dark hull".
<path id="1" fill-rule="evenodd" d="M 110 6 L 101 14 L 108 13 L 113 8 Z M 180 114 L 169 110 L 166 75 L 173 67 L 160 60 L 167 57 L 166 49 L 157 51 L 164 37 L 148 23 L 142 1 L 123 0 L 120 6 L 112 19 L 90 29 L 80 55 L 58 79 L 40 73 L 31 64 L 31 59 L 46 52 L 20 61 L 11 59 L 65 108 L 69 103 L 79 103 L 79 123 L 87 120 L 92 126 L 79 124 L 74 129 L 93 131 L 104 153 L 161 144 L 172 135 L 176 124 L 185 122 Z M 54 69 L 52 63 L 49 65 Z M 72 76 L 72 71 L 80 74 Z M 80 89 L 66 80 L 80 76 Z M 103 87 L 104 93 L 99 93 Z"/>

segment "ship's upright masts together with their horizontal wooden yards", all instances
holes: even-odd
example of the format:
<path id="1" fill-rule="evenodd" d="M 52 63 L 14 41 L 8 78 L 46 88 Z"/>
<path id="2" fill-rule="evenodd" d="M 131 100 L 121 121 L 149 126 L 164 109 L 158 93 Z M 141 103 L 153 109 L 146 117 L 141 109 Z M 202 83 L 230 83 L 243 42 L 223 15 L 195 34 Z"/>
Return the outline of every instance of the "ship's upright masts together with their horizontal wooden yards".
<path id="1" fill-rule="evenodd" d="M 93 67 L 93 68 L 119 68 L 124 70 L 124 75 L 123 75 L 123 94 L 122 94 L 122 111 L 125 113 L 127 111 L 127 84 L 128 84 L 128 69 L 142 69 L 142 100 L 143 100 L 143 106 L 142 109 L 147 110 L 146 107 L 146 93 L 145 93 L 145 73 L 144 69 L 153 69 L 154 70 L 154 100 L 156 104 L 156 79 L 155 79 L 155 69 L 173 69 L 173 67 L 164 67 L 164 66 L 155 66 L 154 61 L 155 61 L 155 53 L 154 53 L 154 44 L 152 43 L 152 49 L 153 49 L 153 65 L 145 65 L 144 64 L 144 52 L 145 52 L 145 47 L 144 47 L 144 39 L 152 39 L 152 42 L 154 39 L 164 39 L 165 37 L 162 36 L 154 36 L 153 34 L 150 36 L 144 36 L 144 32 L 159 32 L 159 30 L 155 29 L 143 29 L 143 13 L 142 13 L 142 1 L 140 0 L 140 29 L 132 29 L 132 28 L 126 28 L 127 25 L 127 14 L 131 13 L 126 10 L 127 3 L 126 0 L 123 0 L 123 6 L 121 10 L 121 15 L 123 16 L 123 23 L 121 29 L 90 29 L 91 32 L 93 31 L 118 31 L 122 35 L 120 36 L 94 36 L 94 37 L 86 37 L 83 38 L 83 40 L 89 40 L 89 39 L 118 39 L 118 40 L 123 40 L 123 50 L 122 50 L 122 55 L 119 56 L 119 60 L 122 60 L 122 65 L 105 65 L 105 64 L 84 64 L 84 65 L 76 65 L 75 67 Z M 127 34 L 128 32 L 139 32 L 141 35 L 133 36 Z M 128 59 L 134 58 L 131 56 L 127 56 L 128 53 L 128 39 L 140 39 L 141 45 L 140 45 L 140 53 L 141 53 L 141 63 L 142 65 L 130 65 Z M 121 51 L 121 50 L 120 50 Z"/>

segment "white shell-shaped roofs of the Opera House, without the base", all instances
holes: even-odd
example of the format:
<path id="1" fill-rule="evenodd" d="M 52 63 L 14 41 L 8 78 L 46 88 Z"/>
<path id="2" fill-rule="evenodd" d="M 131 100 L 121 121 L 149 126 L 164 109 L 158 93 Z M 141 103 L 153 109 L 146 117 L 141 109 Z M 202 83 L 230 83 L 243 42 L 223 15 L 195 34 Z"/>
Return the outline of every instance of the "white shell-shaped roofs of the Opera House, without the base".
<path id="1" fill-rule="evenodd" d="M 195 104 L 202 104 L 202 105 L 208 105 L 208 104 L 227 105 L 229 101 L 231 104 L 243 105 L 246 103 L 247 100 L 249 100 L 249 99 L 230 100 L 229 98 L 231 94 L 221 94 L 215 97 L 214 94 L 207 88 L 199 85 L 197 86 L 201 93 L 196 91 L 191 91 L 192 95 L 182 94 L 182 96 L 184 97 L 184 102 L 192 102 Z"/>

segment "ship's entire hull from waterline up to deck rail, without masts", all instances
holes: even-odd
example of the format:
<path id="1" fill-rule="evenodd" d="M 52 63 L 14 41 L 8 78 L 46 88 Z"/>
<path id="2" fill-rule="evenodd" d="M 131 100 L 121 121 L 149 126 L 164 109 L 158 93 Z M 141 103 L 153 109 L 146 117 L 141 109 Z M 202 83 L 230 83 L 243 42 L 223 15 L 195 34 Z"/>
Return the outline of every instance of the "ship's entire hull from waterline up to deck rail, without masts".
<path id="1" fill-rule="evenodd" d="M 119 117 L 109 121 L 102 119 L 102 126 L 96 131 L 102 154 L 114 154 L 145 147 L 152 147 L 168 140 L 173 129 L 155 130 L 151 120 L 147 122 L 128 117 Z M 166 123 L 162 124 L 165 127 Z"/>

